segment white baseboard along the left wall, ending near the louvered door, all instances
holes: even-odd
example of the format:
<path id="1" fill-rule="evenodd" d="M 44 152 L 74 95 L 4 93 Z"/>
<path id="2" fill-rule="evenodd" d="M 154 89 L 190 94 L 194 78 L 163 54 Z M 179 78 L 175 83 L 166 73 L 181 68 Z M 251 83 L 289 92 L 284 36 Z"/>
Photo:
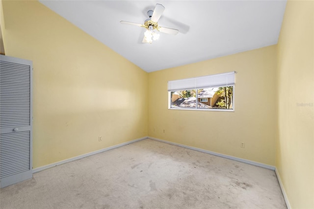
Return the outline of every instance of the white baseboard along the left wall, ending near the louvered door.
<path id="1" fill-rule="evenodd" d="M 37 172 L 40 172 L 40 171 L 43 171 L 43 170 L 46 170 L 46 169 L 49 169 L 49 168 L 53 168 L 53 167 L 58 166 L 58 165 L 62 165 L 64 163 L 72 162 L 72 161 L 77 160 L 77 159 L 81 159 L 81 158 L 84 158 L 84 157 L 89 157 L 89 156 L 92 156 L 92 155 L 103 153 L 103 152 L 106 152 L 108 150 L 112 150 L 112 149 L 115 149 L 115 148 L 118 148 L 118 147 L 122 147 L 124 145 L 131 144 L 131 143 L 134 143 L 136 141 L 140 141 L 140 140 L 147 139 L 147 138 L 148 137 L 145 136 L 145 137 L 134 139 L 132 141 L 128 141 L 128 142 L 125 142 L 125 143 L 122 143 L 122 144 L 118 144 L 118 145 L 114 145 L 114 146 L 111 146 L 111 147 L 107 147 L 105 149 L 101 149 L 101 150 L 97 150 L 97 151 L 94 151 L 94 152 L 91 152 L 91 153 L 87 153 L 87 154 L 84 154 L 84 155 L 80 155 L 80 156 L 77 156 L 77 157 L 72 157 L 72 158 L 69 158 L 69 159 L 61 160 L 61 161 L 58 161 L 58 162 L 55 162 L 55 163 L 52 163 L 52 164 L 49 164 L 49 165 L 44 165 L 44 166 L 41 166 L 41 167 L 33 169 L 33 174 L 37 173 Z"/>

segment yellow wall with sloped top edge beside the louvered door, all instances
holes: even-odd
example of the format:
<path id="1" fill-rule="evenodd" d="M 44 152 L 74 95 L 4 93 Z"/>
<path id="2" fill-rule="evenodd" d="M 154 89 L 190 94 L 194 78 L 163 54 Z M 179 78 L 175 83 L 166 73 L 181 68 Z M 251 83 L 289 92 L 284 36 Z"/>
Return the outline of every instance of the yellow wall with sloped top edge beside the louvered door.
<path id="1" fill-rule="evenodd" d="M 33 61 L 34 168 L 147 136 L 146 72 L 38 1 L 2 3 L 6 55 Z"/>

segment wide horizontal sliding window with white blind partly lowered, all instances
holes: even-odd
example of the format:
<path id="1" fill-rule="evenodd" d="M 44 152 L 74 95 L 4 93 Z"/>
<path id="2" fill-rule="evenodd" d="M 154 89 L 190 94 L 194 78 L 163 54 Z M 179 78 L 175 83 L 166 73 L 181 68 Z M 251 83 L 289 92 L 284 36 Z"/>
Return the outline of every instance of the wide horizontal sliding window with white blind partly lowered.
<path id="1" fill-rule="evenodd" d="M 235 72 L 168 81 L 169 109 L 234 110 Z"/>

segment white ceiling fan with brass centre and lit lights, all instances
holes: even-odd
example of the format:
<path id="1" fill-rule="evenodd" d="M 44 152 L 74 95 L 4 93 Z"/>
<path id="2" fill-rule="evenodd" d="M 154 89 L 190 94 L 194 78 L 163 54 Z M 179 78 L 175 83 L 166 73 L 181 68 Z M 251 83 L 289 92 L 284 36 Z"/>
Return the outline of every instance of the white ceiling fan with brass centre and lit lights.
<path id="1" fill-rule="evenodd" d="M 138 23 L 132 23 L 128 21 L 120 21 L 122 24 L 128 24 L 132 26 L 140 26 L 145 27 L 147 30 L 144 33 L 143 43 L 152 43 L 153 41 L 156 41 L 159 38 L 159 32 L 171 34 L 171 35 L 177 35 L 179 30 L 168 28 L 168 27 L 159 27 L 158 26 L 158 20 L 163 13 L 163 10 L 165 10 L 165 7 L 161 4 L 156 4 L 154 11 L 149 10 L 147 12 L 148 19 L 145 20 L 144 24 L 138 24 Z"/>

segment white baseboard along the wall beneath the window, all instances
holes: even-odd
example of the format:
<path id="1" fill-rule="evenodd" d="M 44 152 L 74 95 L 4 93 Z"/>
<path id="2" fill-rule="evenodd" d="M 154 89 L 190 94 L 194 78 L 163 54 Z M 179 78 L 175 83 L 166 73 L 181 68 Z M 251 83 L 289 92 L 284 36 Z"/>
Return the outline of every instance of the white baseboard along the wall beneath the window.
<path id="1" fill-rule="evenodd" d="M 239 157 L 233 157 L 233 156 L 228 156 L 228 155 L 224 155 L 224 154 L 220 154 L 220 153 L 215 153 L 215 152 L 211 152 L 211 151 L 208 151 L 208 150 L 203 150 L 203 149 L 199 149 L 199 148 L 196 148 L 196 147 L 190 147 L 190 146 L 186 146 L 186 145 L 182 145 L 182 144 L 178 144 L 178 143 L 174 143 L 174 142 L 170 142 L 170 141 L 165 141 L 165 140 L 157 139 L 157 138 L 150 137 L 150 136 L 148 138 L 156 140 L 156 141 L 160 141 L 160 142 L 176 145 L 176 146 L 179 146 L 179 147 L 183 147 L 183 148 L 186 148 L 186 149 L 195 150 L 195 151 L 199 151 L 199 152 L 202 152 L 202 153 L 207 153 L 207 154 L 218 156 L 218 157 L 224 157 L 224 158 L 232 159 L 232 160 L 239 161 L 239 162 L 244 162 L 244 163 L 247 163 L 247 164 L 250 164 L 250 165 L 259 166 L 259 167 L 266 168 L 266 169 L 269 169 L 269 170 L 273 170 L 273 171 L 275 170 L 275 166 L 272 166 L 272 165 L 267 165 L 267 164 L 263 164 L 263 163 L 260 163 L 260 162 L 251 161 L 251 160 L 248 160 L 248 159 L 243 159 L 243 158 L 239 158 Z"/>

